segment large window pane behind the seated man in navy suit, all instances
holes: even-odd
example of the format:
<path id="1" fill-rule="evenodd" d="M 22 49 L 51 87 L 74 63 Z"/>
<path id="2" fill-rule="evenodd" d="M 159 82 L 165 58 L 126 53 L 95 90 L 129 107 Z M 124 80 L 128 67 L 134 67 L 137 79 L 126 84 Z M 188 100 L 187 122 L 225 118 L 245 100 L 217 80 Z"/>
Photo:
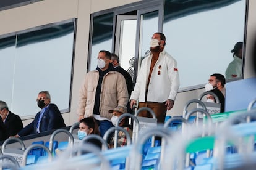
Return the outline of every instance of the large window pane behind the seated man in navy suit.
<path id="1" fill-rule="evenodd" d="M 51 102 L 69 110 L 74 22 L 18 34 L 15 40 L 0 50 L 8 71 L 1 74 L 8 84 L 1 95 L 11 110 L 19 116 L 35 115 L 40 91 L 49 91 Z"/>

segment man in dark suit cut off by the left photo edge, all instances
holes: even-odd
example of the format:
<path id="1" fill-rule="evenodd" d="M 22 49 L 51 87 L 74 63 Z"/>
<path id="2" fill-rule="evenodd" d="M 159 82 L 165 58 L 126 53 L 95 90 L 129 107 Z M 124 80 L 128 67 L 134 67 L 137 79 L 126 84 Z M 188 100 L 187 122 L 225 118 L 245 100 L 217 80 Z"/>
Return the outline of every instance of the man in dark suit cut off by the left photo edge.
<path id="1" fill-rule="evenodd" d="M 14 136 L 17 132 L 23 129 L 23 123 L 20 116 L 9 111 L 9 108 L 4 101 L 0 101 L 0 116 L 8 137 Z"/>

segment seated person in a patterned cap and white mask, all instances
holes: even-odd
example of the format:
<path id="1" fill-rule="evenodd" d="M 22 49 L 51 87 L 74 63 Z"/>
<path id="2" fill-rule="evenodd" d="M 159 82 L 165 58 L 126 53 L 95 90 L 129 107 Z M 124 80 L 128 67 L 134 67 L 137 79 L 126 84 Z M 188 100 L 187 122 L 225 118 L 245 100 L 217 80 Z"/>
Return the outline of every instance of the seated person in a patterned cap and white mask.
<path id="1" fill-rule="evenodd" d="M 111 118 L 111 121 L 112 121 L 113 125 L 116 126 L 117 119 L 119 118 L 119 116 L 121 116 L 123 113 L 127 113 L 127 111 L 126 111 L 125 107 L 117 106 L 113 110 L 109 110 L 109 113 L 112 113 L 113 116 Z M 130 137 L 132 137 L 132 126 L 130 126 L 130 124 L 129 124 L 129 117 L 122 118 L 122 120 L 119 123 L 119 127 L 123 127 L 124 129 L 126 129 L 126 131 L 129 133 Z M 113 148 L 114 147 L 114 133 L 113 133 L 113 136 L 111 137 L 110 141 L 111 142 L 109 143 L 109 148 Z M 122 132 L 122 131 L 119 131 L 118 139 L 117 139 L 117 147 L 122 147 L 124 145 L 127 145 L 126 134 L 124 134 L 124 132 Z"/>

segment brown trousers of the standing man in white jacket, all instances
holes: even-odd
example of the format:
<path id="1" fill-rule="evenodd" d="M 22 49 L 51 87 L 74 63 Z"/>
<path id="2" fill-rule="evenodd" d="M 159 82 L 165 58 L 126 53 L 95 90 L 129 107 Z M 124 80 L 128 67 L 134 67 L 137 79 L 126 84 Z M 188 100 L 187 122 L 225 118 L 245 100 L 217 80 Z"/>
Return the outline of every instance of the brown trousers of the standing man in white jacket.
<path id="1" fill-rule="evenodd" d="M 148 107 L 151 108 L 157 118 L 158 123 L 164 123 L 165 116 L 166 116 L 166 105 L 164 103 L 156 103 L 156 102 L 139 102 L 138 108 Z M 147 110 L 142 110 L 138 114 L 138 116 L 152 118 L 151 114 Z"/>

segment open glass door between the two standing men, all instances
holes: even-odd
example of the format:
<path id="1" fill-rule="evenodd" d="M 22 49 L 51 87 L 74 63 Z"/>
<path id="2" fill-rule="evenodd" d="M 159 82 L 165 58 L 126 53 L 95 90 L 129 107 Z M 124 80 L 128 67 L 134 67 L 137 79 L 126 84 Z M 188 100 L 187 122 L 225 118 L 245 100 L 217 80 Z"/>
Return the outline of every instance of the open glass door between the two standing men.
<path id="1" fill-rule="evenodd" d="M 160 28 L 159 8 L 143 8 L 133 11 L 133 15 L 117 15 L 114 51 L 119 55 L 121 67 L 132 76 L 134 84 L 141 61 L 150 54 L 151 37 Z"/>

